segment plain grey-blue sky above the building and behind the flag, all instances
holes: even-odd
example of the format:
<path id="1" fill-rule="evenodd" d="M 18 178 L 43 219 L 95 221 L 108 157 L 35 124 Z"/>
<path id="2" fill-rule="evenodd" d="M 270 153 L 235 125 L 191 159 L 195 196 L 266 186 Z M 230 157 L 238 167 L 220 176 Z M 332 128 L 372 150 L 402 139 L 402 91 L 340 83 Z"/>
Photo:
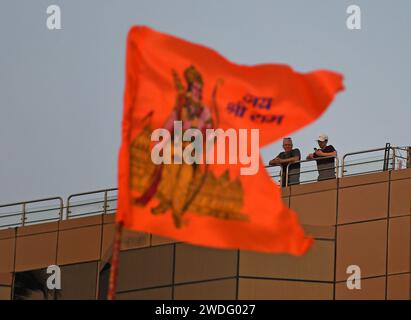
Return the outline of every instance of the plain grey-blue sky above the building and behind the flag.
<path id="1" fill-rule="evenodd" d="M 345 26 L 362 9 L 362 30 Z M 63 30 L 46 28 L 58 4 Z M 329 68 L 346 91 L 292 135 L 303 156 L 325 132 L 339 154 L 409 145 L 411 1 L 1 0 L 0 203 L 112 187 L 125 36 L 146 24 L 238 63 Z M 262 150 L 265 162 L 281 149 Z"/>

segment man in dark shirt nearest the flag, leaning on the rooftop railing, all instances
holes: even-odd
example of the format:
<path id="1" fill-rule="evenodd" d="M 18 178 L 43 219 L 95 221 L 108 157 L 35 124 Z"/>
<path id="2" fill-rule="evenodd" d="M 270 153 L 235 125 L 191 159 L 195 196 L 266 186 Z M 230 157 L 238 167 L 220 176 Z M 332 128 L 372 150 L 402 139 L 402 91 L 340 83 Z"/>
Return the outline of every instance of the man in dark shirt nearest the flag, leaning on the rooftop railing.
<path id="1" fill-rule="evenodd" d="M 273 160 L 269 162 L 270 166 L 280 165 L 281 170 L 281 186 L 286 186 L 286 172 L 288 167 L 288 185 L 300 183 L 300 159 L 301 153 L 298 149 L 293 149 L 293 141 L 291 138 L 283 139 L 284 151 L 278 154 Z M 296 162 L 296 163 L 294 163 Z"/>

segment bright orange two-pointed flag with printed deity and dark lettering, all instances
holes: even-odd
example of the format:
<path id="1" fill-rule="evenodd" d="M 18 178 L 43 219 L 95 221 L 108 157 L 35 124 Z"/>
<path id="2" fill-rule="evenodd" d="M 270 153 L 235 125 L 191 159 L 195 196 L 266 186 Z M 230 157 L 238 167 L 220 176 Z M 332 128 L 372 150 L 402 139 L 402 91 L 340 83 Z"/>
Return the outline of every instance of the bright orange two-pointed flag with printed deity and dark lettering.
<path id="1" fill-rule="evenodd" d="M 259 148 L 317 119 L 342 89 L 331 71 L 238 65 L 133 27 L 117 222 L 196 245 L 305 253 L 312 239 L 284 207 Z"/>

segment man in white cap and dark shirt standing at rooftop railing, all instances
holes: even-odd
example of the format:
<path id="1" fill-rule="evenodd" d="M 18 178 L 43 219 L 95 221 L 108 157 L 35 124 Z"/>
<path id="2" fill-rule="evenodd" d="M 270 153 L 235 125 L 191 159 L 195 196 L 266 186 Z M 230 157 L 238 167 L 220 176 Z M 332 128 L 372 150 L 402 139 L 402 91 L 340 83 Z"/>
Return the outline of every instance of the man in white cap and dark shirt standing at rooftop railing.
<path id="1" fill-rule="evenodd" d="M 307 156 L 307 160 L 318 159 L 318 181 L 335 179 L 335 158 L 320 159 L 323 157 L 336 157 L 337 151 L 332 145 L 327 145 L 328 136 L 320 134 L 317 139 L 320 149 L 314 148 L 315 152 Z"/>

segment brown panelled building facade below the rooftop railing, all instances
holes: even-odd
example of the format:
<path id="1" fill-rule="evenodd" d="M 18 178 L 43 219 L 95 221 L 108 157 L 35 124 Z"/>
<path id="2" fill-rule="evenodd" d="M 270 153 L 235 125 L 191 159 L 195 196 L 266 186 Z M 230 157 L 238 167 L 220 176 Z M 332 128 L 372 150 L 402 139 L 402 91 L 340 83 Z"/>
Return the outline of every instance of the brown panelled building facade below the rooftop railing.
<path id="1" fill-rule="evenodd" d="M 410 299 L 411 169 L 290 186 L 315 244 L 303 257 L 219 250 L 125 231 L 118 299 Z M 114 215 L 0 230 L 0 299 L 105 299 Z M 61 289 L 46 286 L 57 265 Z M 361 289 L 349 289 L 350 266 Z"/>

